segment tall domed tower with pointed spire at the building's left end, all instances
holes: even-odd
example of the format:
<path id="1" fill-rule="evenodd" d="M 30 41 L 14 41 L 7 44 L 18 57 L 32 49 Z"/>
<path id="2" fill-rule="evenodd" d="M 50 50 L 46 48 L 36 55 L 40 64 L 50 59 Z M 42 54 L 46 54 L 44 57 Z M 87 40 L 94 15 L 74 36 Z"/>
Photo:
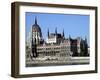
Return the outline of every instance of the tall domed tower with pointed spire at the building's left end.
<path id="1" fill-rule="evenodd" d="M 32 25 L 32 56 L 37 57 L 37 45 L 40 45 L 41 42 L 43 41 L 42 39 L 42 32 L 41 28 L 37 23 L 37 18 L 35 17 L 35 23 Z"/>

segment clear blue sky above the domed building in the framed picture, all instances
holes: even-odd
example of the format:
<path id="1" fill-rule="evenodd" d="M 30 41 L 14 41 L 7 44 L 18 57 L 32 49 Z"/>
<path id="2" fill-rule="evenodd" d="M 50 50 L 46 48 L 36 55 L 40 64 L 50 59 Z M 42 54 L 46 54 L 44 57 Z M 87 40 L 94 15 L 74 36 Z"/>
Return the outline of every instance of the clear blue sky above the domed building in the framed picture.
<path id="1" fill-rule="evenodd" d="M 58 33 L 62 33 L 64 29 L 66 38 L 69 35 L 72 38 L 82 37 L 84 39 L 86 37 L 89 44 L 89 15 L 26 12 L 26 37 L 34 24 L 35 17 L 37 17 L 37 23 L 41 27 L 44 39 L 47 37 L 48 28 L 51 33 L 54 33 L 57 28 Z"/>

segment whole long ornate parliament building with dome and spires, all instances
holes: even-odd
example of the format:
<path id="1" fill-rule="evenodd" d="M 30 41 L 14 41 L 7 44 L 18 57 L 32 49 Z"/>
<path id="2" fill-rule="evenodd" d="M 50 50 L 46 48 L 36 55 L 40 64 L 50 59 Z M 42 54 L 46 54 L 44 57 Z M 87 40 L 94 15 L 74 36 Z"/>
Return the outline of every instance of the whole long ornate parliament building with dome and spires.
<path id="1" fill-rule="evenodd" d="M 32 58 L 47 58 L 47 59 L 61 59 L 74 56 L 89 56 L 87 39 L 77 37 L 75 39 L 69 36 L 65 37 L 64 30 L 62 33 L 54 33 L 47 31 L 46 40 L 43 39 L 41 27 L 37 23 L 32 25 L 31 39 L 26 45 L 27 56 Z"/>

